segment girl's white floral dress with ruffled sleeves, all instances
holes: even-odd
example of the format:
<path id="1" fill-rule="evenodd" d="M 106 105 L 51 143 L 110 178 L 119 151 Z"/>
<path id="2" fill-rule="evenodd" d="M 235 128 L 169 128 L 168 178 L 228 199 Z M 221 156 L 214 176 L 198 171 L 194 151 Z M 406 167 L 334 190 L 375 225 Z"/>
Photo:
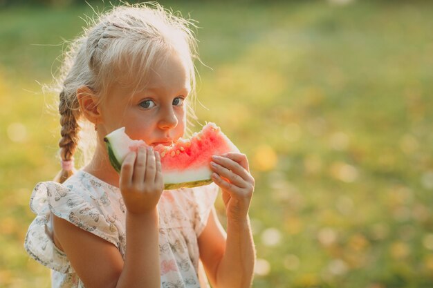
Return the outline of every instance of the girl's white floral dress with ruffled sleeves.
<path id="1" fill-rule="evenodd" d="M 199 246 L 218 186 L 163 191 L 158 203 L 161 287 L 200 287 Z M 125 258 L 125 204 L 116 186 L 78 171 L 64 184 L 40 182 L 30 199 L 37 214 L 24 242 L 27 253 L 52 270 L 53 288 L 82 288 L 66 254 L 53 242 L 53 213 L 114 244 Z"/>

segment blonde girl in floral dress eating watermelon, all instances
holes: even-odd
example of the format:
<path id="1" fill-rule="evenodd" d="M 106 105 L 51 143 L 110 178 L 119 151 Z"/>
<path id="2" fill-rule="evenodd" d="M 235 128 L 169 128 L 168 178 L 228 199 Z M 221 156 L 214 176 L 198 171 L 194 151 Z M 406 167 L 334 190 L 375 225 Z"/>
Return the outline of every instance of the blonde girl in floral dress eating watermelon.
<path id="1" fill-rule="evenodd" d="M 130 153 L 118 175 L 102 140 L 121 126 L 150 146 L 183 136 L 195 84 L 189 26 L 158 4 L 113 8 L 66 55 L 62 171 L 57 182 L 35 187 L 37 216 L 25 241 L 52 270 L 53 287 L 208 287 L 208 279 L 213 287 L 250 287 L 254 179 L 245 155 L 214 157 L 214 184 L 163 191 L 158 153 Z M 81 120 L 97 141 L 89 164 L 73 173 Z M 218 186 L 227 233 L 213 207 Z"/>

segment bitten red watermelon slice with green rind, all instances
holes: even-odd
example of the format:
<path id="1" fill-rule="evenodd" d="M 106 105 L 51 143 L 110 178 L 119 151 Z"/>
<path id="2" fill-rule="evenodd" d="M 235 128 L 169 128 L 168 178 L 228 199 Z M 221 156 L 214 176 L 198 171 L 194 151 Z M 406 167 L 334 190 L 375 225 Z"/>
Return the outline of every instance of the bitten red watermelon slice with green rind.
<path id="1" fill-rule="evenodd" d="M 131 140 L 125 127 L 118 128 L 104 137 L 111 165 L 120 173 L 123 160 L 130 151 L 147 146 L 143 140 Z M 210 161 L 212 155 L 239 152 L 214 123 L 203 126 L 191 139 L 180 139 L 170 146 L 154 146 L 161 157 L 165 190 L 196 187 L 212 182 Z"/>

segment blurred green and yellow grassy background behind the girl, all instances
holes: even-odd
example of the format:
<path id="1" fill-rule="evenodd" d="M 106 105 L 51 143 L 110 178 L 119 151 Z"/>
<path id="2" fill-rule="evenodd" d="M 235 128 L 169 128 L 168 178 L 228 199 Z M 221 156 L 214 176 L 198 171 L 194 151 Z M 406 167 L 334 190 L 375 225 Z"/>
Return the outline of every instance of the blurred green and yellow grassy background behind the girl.
<path id="1" fill-rule="evenodd" d="M 199 21 L 196 113 L 250 160 L 253 287 L 433 287 L 433 1 L 161 3 Z M 84 15 L 0 0 L 0 287 L 50 287 L 23 249 L 59 169 L 42 84 Z"/>

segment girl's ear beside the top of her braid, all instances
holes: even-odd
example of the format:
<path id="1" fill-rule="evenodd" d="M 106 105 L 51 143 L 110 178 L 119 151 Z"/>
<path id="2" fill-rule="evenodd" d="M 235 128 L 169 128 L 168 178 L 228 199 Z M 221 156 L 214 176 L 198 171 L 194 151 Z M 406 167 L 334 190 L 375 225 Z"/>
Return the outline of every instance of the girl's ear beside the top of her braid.
<path id="1" fill-rule="evenodd" d="M 101 113 L 98 107 L 99 99 L 88 86 L 77 88 L 77 100 L 80 104 L 80 111 L 93 124 L 101 123 Z"/>

